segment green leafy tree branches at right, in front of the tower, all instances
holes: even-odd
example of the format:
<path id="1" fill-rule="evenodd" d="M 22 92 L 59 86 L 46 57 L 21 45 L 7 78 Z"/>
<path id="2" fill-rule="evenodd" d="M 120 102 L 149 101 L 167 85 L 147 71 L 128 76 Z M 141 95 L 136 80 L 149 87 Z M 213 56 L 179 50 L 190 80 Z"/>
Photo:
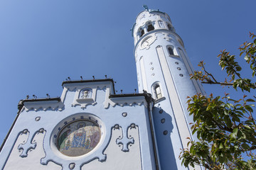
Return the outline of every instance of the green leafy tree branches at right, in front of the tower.
<path id="1" fill-rule="evenodd" d="M 198 94 L 188 98 L 188 111 L 193 115 L 192 132 L 198 141 L 188 142 L 188 148 L 180 155 L 186 167 L 196 164 L 206 169 L 256 169 L 256 122 L 253 115 L 255 96 L 252 89 L 256 88 L 253 81 L 256 72 L 256 35 L 250 33 L 252 42 L 240 46 L 240 57 L 250 67 L 252 77 L 242 76 L 242 67 L 235 55 L 223 50 L 218 57 L 219 65 L 225 70 L 227 78 L 217 81 L 213 74 L 206 70 L 204 62 L 198 64 L 201 71 L 194 72 L 191 79 L 203 84 L 220 84 L 232 86 L 233 89 L 250 94 L 242 94 L 241 99 L 203 96 Z"/>

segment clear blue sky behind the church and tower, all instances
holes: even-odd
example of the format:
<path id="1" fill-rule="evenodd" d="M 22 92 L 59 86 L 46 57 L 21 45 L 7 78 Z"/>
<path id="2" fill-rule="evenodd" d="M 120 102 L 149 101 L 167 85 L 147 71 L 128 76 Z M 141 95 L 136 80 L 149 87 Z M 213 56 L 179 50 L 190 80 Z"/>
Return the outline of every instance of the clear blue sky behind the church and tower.
<path id="1" fill-rule="evenodd" d="M 168 13 L 193 66 L 204 60 L 218 78 L 220 50 L 238 55 L 249 32 L 256 33 L 254 0 L 0 0 L 0 142 L 19 100 L 60 96 L 67 77 L 107 74 L 117 94 L 137 89 L 130 28 L 143 4 Z M 204 87 L 208 94 L 225 91 Z"/>

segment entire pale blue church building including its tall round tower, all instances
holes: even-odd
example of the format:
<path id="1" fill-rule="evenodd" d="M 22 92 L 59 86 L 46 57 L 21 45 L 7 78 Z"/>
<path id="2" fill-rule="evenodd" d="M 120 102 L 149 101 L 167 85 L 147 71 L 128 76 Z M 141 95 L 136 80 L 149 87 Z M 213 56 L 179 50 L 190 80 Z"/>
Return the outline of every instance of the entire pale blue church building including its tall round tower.
<path id="1" fill-rule="evenodd" d="M 196 140 L 186 97 L 204 92 L 169 16 L 144 7 L 132 27 L 139 93 L 92 79 L 63 81 L 60 98 L 21 100 L 0 169 L 185 169 L 178 155 Z"/>

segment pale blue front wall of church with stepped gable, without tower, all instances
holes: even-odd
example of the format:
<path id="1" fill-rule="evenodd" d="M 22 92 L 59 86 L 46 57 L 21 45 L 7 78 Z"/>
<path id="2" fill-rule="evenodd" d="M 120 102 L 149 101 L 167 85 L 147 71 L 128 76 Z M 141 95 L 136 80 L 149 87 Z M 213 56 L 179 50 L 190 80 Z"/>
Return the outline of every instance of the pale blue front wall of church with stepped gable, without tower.
<path id="1" fill-rule="evenodd" d="M 114 94 L 112 79 L 64 81 L 60 98 L 21 102 L 18 119 L 1 149 L 0 169 L 155 170 L 152 105 L 149 94 Z M 66 149 L 65 143 L 61 152 L 63 141 L 61 145 L 58 141 L 73 123 L 93 123 L 100 136 L 93 137 L 93 126 L 84 125 L 68 135 L 70 145 Z M 88 148 L 95 139 L 97 145 Z M 82 150 L 86 153 L 76 153 Z"/>

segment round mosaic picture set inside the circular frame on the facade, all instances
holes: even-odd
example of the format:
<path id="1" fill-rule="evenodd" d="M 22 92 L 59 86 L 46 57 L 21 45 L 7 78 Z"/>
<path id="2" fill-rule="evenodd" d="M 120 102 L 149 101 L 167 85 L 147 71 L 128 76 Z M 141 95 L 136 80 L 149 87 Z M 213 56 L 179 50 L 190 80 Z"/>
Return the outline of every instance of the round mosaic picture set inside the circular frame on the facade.
<path id="1" fill-rule="evenodd" d="M 78 157 L 92 151 L 100 142 L 101 132 L 91 120 L 76 120 L 65 125 L 57 137 L 58 150 L 69 156 Z"/>

